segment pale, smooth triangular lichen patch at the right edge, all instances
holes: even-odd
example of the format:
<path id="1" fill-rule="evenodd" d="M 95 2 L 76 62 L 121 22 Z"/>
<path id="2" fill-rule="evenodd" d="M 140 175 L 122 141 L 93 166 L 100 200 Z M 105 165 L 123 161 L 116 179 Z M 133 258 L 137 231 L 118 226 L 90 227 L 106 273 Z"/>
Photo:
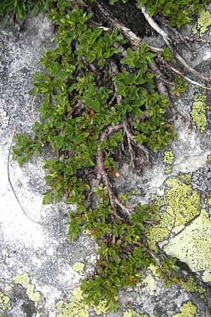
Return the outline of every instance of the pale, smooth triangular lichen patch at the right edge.
<path id="1" fill-rule="evenodd" d="M 172 237 L 164 251 L 186 263 L 191 271 L 211 271 L 211 218 L 207 211 L 201 211 L 186 228 Z M 208 275 L 209 276 L 209 275 Z M 211 281 L 206 275 L 206 281 Z"/>

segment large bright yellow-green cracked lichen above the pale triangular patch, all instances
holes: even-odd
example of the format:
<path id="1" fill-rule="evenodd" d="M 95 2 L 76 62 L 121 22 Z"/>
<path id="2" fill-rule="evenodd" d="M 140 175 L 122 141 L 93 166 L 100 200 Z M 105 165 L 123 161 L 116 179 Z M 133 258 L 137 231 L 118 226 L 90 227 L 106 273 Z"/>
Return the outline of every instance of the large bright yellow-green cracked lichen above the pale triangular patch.
<path id="1" fill-rule="evenodd" d="M 146 232 L 148 244 L 154 251 L 158 251 L 158 242 L 165 240 L 172 230 L 177 232 L 177 228 L 180 230 L 200 213 L 200 195 L 192 189 L 189 174 L 172 176 L 165 185 L 165 195 L 156 200 L 160 212 L 155 220 L 159 223 Z"/>

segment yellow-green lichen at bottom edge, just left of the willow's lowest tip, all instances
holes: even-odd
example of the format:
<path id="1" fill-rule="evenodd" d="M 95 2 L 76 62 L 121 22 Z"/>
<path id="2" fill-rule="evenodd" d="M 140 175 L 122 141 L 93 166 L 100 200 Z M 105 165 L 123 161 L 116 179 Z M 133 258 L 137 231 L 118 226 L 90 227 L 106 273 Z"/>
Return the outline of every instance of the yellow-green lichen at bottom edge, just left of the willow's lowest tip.
<path id="1" fill-rule="evenodd" d="M 84 297 L 80 287 L 72 291 L 70 303 L 59 301 L 56 317 L 89 317 L 89 306 L 84 304 Z"/>

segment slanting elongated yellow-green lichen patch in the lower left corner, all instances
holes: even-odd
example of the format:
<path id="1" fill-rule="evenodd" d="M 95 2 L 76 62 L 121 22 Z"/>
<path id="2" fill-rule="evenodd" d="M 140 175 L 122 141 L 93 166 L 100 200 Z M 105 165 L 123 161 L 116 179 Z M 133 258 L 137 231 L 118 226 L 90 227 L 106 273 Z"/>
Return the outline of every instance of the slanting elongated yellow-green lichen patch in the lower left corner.
<path id="1" fill-rule="evenodd" d="M 23 273 L 22 275 L 15 275 L 13 276 L 13 281 L 16 284 L 20 284 L 23 287 L 25 287 L 29 299 L 31 299 L 34 302 L 35 306 L 37 306 L 41 298 L 41 295 L 39 294 L 39 292 L 34 292 L 34 285 L 31 282 L 30 275 L 28 273 Z"/>

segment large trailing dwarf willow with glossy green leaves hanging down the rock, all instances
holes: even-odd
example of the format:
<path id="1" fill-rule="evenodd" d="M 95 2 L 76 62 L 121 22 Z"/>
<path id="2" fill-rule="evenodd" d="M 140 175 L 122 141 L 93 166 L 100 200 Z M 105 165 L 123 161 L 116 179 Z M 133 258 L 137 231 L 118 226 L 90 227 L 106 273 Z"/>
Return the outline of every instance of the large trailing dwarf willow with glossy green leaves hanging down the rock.
<path id="1" fill-rule="evenodd" d="M 55 158 L 44 161 L 48 190 L 43 202 L 65 197 L 76 205 L 70 212 L 70 240 L 82 230 L 89 232 L 99 253 L 96 271 L 82 281 L 84 300 L 97 306 L 106 299 L 108 311 L 115 311 L 119 287 L 135 287 L 150 263 L 167 283 L 176 279 L 174 261 L 154 254 L 146 240 L 146 225 L 152 224 L 157 207 L 137 204 L 125 214 L 125 201 L 117 200 L 108 176 L 118 175 L 114 157 L 122 145 L 124 151 L 129 144 L 141 148 L 143 153 L 136 154 L 143 155 L 174 139 L 165 118 L 167 97 L 155 87 L 148 69 L 155 55 L 146 44 L 128 48 L 121 58 L 115 44 L 124 46 L 122 35 L 94 27 L 91 13 L 64 0 L 51 19 L 57 46 L 44 53 L 44 71 L 34 75 L 30 91 L 41 94 L 40 122 L 34 123 L 31 136 L 15 137 L 13 157 L 22 166 L 45 145 L 51 147 Z"/>

